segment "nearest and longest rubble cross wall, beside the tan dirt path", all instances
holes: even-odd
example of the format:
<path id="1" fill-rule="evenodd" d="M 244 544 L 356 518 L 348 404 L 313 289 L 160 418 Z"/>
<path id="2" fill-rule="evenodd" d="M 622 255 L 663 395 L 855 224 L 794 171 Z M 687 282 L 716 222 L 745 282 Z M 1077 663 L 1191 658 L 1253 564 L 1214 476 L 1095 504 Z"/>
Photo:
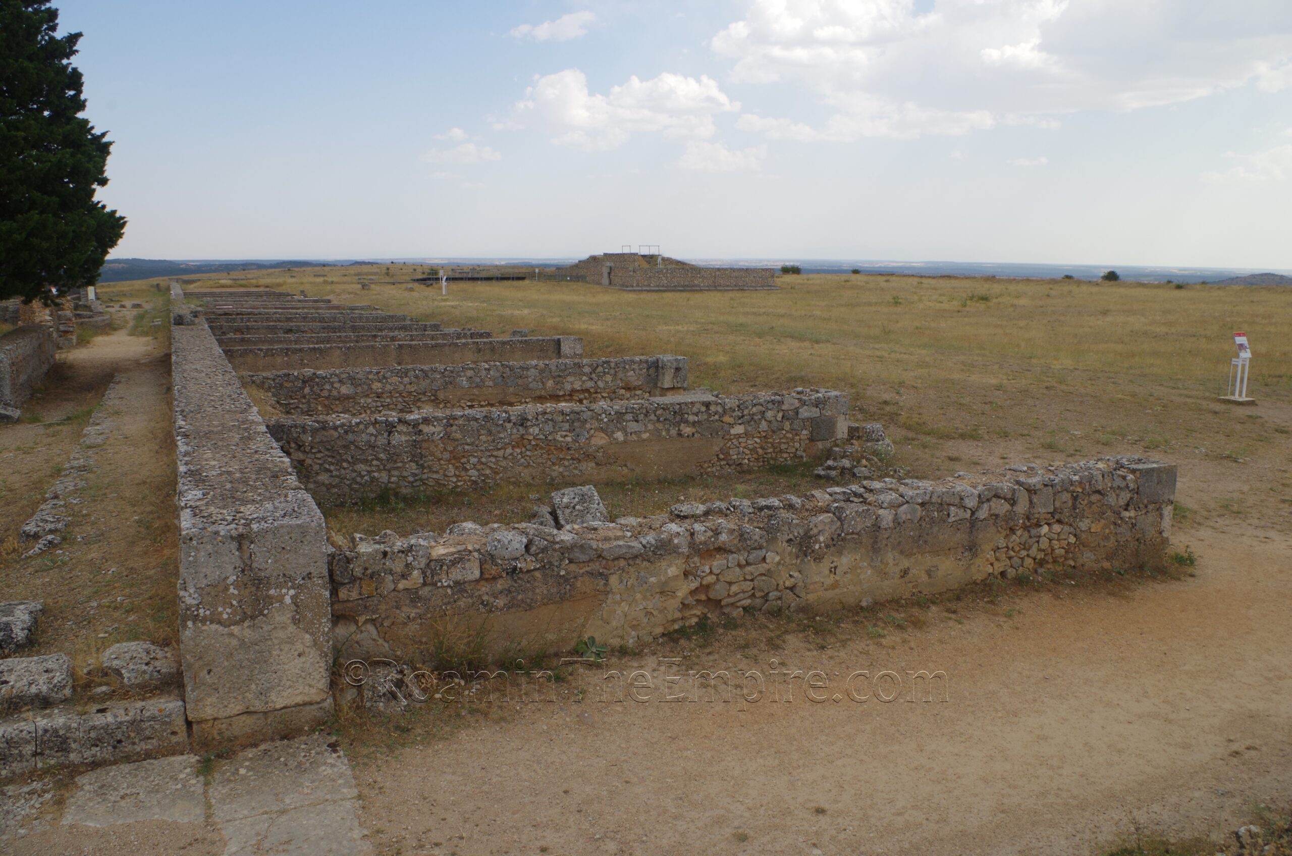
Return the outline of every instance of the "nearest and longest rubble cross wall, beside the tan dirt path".
<path id="1" fill-rule="evenodd" d="M 496 644 L 630 644 L 744 609 L 833 608 L 991 574 L 1160 566 L 1174 490 L 1174 465 L 1120 458 L 676 506 L 562 530 L 362 539 L 329 552 L 335 637 L 407 653 L 433 627 L 483 619 Z"/>

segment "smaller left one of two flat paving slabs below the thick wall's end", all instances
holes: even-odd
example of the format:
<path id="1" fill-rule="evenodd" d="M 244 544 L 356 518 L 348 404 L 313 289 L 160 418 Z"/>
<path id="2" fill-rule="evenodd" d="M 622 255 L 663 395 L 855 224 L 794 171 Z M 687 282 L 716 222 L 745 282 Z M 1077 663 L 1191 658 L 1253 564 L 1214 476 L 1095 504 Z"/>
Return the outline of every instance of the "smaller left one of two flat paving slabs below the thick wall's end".
<path id="1" fill-rule="evenodd" d="M 141 820 L 200 824 L 207 813 L 195 755 L 101 767 L 76 777 L 63 824 L 111 826 Z"/>

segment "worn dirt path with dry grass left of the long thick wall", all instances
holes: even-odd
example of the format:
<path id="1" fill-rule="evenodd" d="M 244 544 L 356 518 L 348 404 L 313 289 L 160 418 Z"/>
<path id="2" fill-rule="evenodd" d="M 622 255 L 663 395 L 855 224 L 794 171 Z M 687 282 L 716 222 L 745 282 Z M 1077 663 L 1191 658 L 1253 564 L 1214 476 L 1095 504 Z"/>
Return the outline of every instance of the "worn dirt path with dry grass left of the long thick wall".
<path id="1" fill-rule="evenodd" d="M 124 330 L 99 336 L 61 358 L 59 375 L 47 380 L 48 392 L 35 405 L 45 419 L 84 418 L 56 428 L 0 428 L 0 455 L 8 455 L 0 456 L 0 469 L 22 485 L 21 500 L 4 503 L 0 592 L 4 600 L 45 603 L 30 654 L 62 652 L 80 665 L 116 641 L 174 639 L 174 453 L 169 365 L 160 350 L 154 339 Z M 103 398 L 114 376 L 110 400 Z M 94 449 L 85 486 L 67 499 L 63 543 L 25 559 L 13 537 L 58 477 L 101 398 L 106 440 Z"/>

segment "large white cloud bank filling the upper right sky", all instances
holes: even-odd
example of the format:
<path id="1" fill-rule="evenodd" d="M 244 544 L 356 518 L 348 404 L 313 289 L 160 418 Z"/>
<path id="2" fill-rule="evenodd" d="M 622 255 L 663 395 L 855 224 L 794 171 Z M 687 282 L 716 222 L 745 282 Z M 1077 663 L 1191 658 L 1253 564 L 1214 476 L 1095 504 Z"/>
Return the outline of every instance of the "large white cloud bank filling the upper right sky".
<path id="1" fill-rule="evenodd" d="M 1083 110 L 1292 87 L 1292 3 L 1249 0 L 747 0 L 711 40 L 738 83 L 804 87 L 813 128 L 742 118 L 775 140 L 1057 127 Z"/>

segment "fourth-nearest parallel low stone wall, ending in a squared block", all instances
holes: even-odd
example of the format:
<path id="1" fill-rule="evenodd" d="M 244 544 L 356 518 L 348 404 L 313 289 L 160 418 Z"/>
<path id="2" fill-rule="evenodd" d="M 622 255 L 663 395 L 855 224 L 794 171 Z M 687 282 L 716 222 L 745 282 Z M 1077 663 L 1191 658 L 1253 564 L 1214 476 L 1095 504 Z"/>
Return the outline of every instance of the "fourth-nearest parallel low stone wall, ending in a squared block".
<path id="1" fill-rule="evenodd" d="M 466 339 L 463 341 L 364 343 L 354 345 L 225 345 L 238 371 L 296 369 L 377 369 L 382 366 L 441 366 L 463 362 L 559 359 L 583 356 L 578 336 L 534 339 Z"/>

